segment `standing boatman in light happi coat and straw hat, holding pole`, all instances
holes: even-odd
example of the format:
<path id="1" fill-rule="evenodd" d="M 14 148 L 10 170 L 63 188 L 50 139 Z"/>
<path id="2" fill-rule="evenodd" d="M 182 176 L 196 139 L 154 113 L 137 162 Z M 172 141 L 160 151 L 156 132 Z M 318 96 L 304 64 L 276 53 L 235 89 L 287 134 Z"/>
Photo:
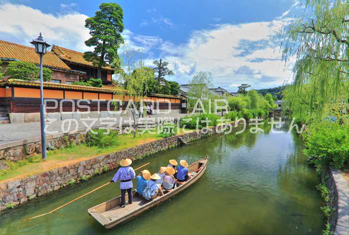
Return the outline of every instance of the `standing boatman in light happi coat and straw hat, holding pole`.
<path id="1" fill-rule="evenodd" d="M 120 168 L 116 172 L 115 176 L 110 182 L 116 183 L 120 180 L 120 189 L 121 189 L 121 207 L 124 208 L 126 206 L 126 191 L 129 196 L 129 204 L 132 204 L 132 180 L 136 178 L 135 170 L 133 170 L 130 165 L 132 164 L 131 159 L 123 159 L 120 162 Z"/>

